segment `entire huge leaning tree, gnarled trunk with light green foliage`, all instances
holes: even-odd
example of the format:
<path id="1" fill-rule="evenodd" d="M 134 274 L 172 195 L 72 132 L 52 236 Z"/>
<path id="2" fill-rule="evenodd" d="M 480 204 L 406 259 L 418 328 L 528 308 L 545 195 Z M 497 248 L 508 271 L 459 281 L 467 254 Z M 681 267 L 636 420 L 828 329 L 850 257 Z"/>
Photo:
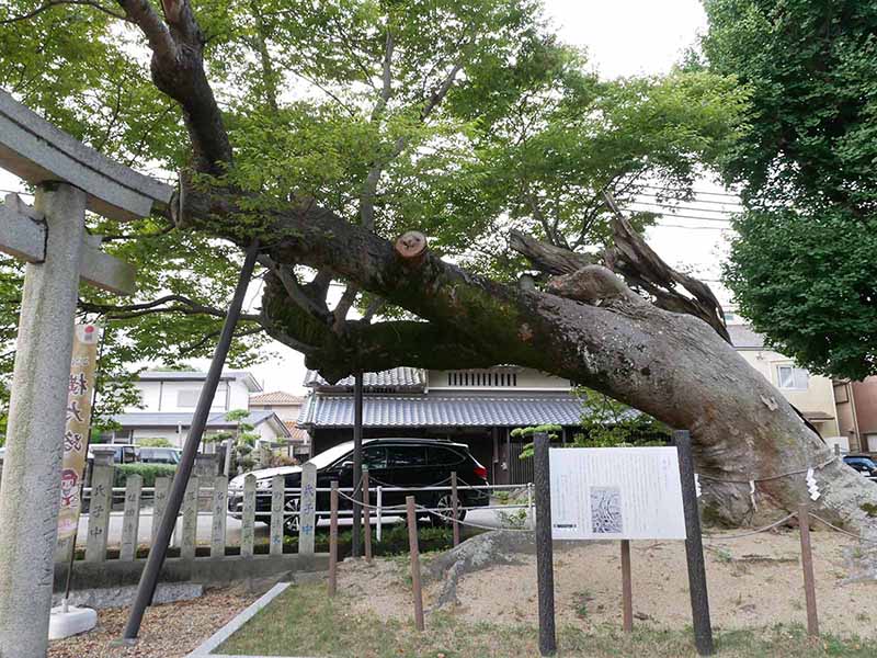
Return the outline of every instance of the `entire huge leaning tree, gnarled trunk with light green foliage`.
<path id="1" fill-rule="evenodd" d="M 261 311 L 242 331 L 329 379 L 535 367 L 691 429 L 718 518 L 752 518 L 751 479 L 760 509 L 796 504 L 813 466 L 820 511 L 868 527 L 877 488 L 729 347 L 709 290 L 639 238 L 652 218 L 606 207 L 645 182 L 686 194 L 739 137 L 732 79 L 601 81 L 526 0 L 8 7 L 0 73 L 24 102 L 182 173 L 167 216 L 94 226 L 152 268 L 147 292 L 185 286 L 149 308 L 82 299 L 130 322 L 126 349 L 141 321 L 161 337 L 146 351 L 209 343 L 231 250 L 259 240 Z"/>

